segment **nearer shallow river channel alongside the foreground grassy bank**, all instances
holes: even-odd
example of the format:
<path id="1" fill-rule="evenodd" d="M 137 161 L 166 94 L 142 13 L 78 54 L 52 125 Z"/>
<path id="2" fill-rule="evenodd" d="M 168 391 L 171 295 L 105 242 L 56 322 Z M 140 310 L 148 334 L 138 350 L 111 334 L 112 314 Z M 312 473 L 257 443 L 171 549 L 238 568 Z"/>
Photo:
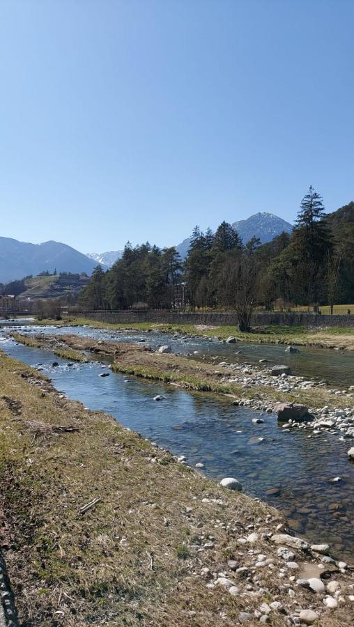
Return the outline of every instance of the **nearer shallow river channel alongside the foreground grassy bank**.
<path id="1" fill-rule="evenodd" d="M 87 327 L 73 331 L 98 333 Z M 166 336 L 163 339 L 166 343 Z M 0 348 L 31 366 L 42 364 L 54 386 L 70 398 L 109 412 L 173 454 L 184 454 L 190 465 L 203 463 L 208 476 L 236 477 L 245 493 L 277 506 L 296 533 L 328 542 L 334 555 L 353 559 L 354 465 L 346 454 L 348 442 L 338 436 L 284 431 L 273 414 L 263 415 L 263 424 L 253 424 L 258 412 L 234 407 L 211 394 L 185 392 L 118 373 L 101 378 L 100 364 L 68 366 L 53 353 L 17 344 L 4 334 Z M 52 367 L 54 360 L 59 367 Z M 154 401 L 157 394 L 164 400 Z M 341 481 L 330 483 L 337 476 Z"/>

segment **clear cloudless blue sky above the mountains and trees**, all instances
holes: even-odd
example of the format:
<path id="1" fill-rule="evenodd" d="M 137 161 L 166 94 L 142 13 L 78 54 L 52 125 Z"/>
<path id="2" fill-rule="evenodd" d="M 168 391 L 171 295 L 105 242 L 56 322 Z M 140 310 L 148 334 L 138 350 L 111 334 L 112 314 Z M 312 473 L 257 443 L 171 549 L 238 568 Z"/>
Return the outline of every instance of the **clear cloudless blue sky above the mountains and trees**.
<path id="1" fill-rule="evenodd" d="M 1 0 L 0 235 L 81 251 L 354 199 L 353 0 Z"/>

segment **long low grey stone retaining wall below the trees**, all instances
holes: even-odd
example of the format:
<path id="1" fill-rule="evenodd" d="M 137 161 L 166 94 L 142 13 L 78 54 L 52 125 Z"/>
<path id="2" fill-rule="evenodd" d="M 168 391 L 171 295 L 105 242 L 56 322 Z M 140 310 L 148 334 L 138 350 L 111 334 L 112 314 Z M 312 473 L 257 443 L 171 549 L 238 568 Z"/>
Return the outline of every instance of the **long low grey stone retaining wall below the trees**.
<path id="1" fill-rule="evenodd" d="M 231 325 L 238 324 L 235 311 L 219 313 L 217 311 L 204 311 L 192 314 L 174 314 L 163 311 L 82 311 L 75 312 L 81 317 L 100 320 L 106 323 L 132 324 L 139 322 L 151 322 L 160 324 L 194 324 L 194 325 Z M 354 327 L 354 316 L 325 316 L 308 313 L 282 313 L 256 311 L 252 316 L 252 325 L 286 325 L 290 327 Z"/>

